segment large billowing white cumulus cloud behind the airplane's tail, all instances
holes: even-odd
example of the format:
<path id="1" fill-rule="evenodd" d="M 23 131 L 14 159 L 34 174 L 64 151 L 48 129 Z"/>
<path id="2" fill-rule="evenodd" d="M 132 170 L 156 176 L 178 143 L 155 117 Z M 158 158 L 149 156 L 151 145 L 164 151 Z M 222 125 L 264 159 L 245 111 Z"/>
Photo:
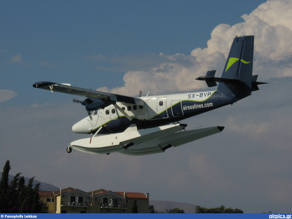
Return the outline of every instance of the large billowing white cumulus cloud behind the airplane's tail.
<path id="1" fill-rule="evenodd" d="M 191 55 L 165 55 L 161 62 L 150 70 L 128 71 L 124 75 L 124 86 L 100 91 L 123 95 L 138 95 L 150 91 L 152 95 L 180 91 L 191 91 L 206 87 L 195 78 L 205 76 L 208 70 L 222 72 L 233 38 L 255 35 L 254 74 L 258 81 L 274 77 L 292 76 L 292 1 L 267 1 L 249 15 L 242 15 L 244 22 L 233 26 L 220 24 L 211 33 L 207 48 L 196 48 Z M 143 94 L 144 94 L 143 93 Z"/>

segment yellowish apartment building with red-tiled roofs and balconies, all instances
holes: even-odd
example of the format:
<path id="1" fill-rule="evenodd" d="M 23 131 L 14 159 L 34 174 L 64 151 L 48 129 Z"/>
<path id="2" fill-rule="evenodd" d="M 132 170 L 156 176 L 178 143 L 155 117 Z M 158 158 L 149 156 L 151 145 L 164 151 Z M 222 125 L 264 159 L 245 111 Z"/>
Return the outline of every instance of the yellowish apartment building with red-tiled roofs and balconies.
<path id="1" fill-rule="evenodd" d="M 84 192 L 68 187 L 55 192 L 39 192 L 50 213 L 130 213 L 136 199 L 138 213 L 149 213 L 149 193 L 112 192 L 95 190 Z"/>

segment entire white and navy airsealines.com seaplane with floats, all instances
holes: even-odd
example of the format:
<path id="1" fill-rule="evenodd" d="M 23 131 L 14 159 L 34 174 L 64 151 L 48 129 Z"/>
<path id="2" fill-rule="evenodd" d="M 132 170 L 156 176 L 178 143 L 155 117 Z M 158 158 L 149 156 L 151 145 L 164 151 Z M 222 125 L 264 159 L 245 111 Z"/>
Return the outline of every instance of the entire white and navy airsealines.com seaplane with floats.
<path id="1" fill-rule="evenodd" d="M 259 84 L 267 84 L 252 75 L 253 47 L 254 36 L 236 36 L 221 77 L 210 70 L 196 78 L 208 87 L 217 87 L 213 91 L 129 97 L 53 82 L 32 86 L 86 98 L 80 102 L 88 116 L 74 124 L 72 131 L 90 137 L 71 142 L 68 153 L 73 148 L 93 154 L 154 154 L 221 132 L 223 126 L 186 131 L 187 124 L 180 121 L 233 104 L 259 90 Z"/>

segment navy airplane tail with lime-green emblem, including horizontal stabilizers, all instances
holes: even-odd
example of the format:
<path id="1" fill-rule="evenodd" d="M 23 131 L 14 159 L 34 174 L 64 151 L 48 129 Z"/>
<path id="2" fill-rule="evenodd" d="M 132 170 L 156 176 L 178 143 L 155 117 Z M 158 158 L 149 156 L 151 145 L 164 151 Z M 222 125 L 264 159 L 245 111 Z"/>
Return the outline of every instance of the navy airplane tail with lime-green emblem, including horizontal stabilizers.
<path id="1" fill-rule="evenodd" d="M 217 90 L 226 96 L 242 99 L 251 95 L 258 84 L 265 84 L 256 82 L 257 77 L 252 75 L 253 46 L 254 36 L 235 37 L 221 78 L 214 77 L 215 70 L 212 70 L 197 80 L 206 81 L 209 87 L 219 82 Z"/>

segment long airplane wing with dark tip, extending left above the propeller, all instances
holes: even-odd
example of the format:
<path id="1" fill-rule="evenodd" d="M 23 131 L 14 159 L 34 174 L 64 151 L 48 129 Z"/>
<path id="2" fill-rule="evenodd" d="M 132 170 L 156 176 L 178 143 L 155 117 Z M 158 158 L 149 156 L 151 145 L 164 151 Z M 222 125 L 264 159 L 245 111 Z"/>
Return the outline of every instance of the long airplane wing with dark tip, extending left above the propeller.
<path id="1" fill-rule="evenodd" d="M 115 102 L 123 102 L 144 106 L 144 101 L 140 98 L 128 97 L 113 93 L 106 93 L 101 91 L 93 91 L 84 88 L 73 87 L 70 84 L 58 84 L 53 82 L 37 82 L 32 85 L 34 88 L 41 88 L 51 92 L 68 93 L 77 96 L 94 98 L 94 99 L 110 99 Z"/>

